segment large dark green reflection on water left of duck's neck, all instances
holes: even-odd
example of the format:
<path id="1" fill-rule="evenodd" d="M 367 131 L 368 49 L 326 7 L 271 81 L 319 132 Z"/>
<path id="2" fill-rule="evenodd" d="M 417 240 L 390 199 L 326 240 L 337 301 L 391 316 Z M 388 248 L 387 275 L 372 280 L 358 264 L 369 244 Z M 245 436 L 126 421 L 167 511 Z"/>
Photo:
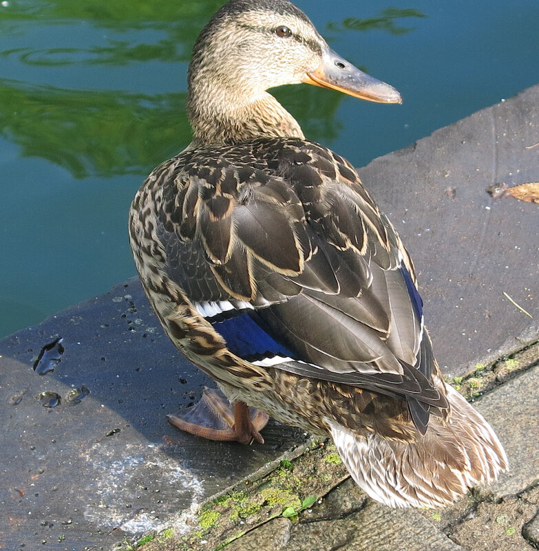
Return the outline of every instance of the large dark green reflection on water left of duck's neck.
<path id="1" fill-rule="evenodd" d="M 76 178 L 141 174 L 189 142 L 184 102 L 184 92 L 147 96 L 0 79 L 1 133 L 23 155 L 60 164 Z"/>

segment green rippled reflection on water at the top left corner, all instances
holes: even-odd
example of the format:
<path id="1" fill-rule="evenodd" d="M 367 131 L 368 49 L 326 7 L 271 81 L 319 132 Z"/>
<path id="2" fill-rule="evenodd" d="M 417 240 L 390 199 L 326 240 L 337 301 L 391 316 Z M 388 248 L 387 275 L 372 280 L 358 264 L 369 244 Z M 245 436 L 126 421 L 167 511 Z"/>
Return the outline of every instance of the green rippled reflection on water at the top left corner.
<path id="1" fill-rule="evenodd" d="M 136 61 L 187 61 L 198 31 L 222 4 L 219 0 L 151 2 L 133 0 L 92 1 L 56 0 L 48 3 L 21 1 L 10 4 L 0 13 L 3 32 L 17 34 L 28 23 L 40 26 L 92 25 L 125 35 L 122 40 L 105 35 L 106 46 L 51 47 L 43 50 L 26 48 L 2 52 L 20 54 L 22 63 L 30 65 L 66 65 L 69 63 L 99 63 L 121 65 Z M 136 44 L 138 34 L 154 30 L 165 35 L 155 43 Z M 143 34 L 140 37 L 144 36 Z M 59 37 L 61 38 L 61 37 Z"/>

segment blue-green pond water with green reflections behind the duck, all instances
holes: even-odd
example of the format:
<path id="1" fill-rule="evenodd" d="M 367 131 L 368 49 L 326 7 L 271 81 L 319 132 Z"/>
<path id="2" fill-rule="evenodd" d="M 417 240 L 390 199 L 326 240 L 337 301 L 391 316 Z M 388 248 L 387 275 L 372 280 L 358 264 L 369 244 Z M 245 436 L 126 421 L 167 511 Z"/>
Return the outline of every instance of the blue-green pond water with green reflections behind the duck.
<path id="1" fill-rule="evenodd" d="M 187 63 L 221 1 L 0 3 L 0 336 L 135 274 L 127 210 L 189 142 Z M 401 91 L 275 93 L 357 166 L 539 82 L 539 1 L 298 0 L 334 50 Z"/>

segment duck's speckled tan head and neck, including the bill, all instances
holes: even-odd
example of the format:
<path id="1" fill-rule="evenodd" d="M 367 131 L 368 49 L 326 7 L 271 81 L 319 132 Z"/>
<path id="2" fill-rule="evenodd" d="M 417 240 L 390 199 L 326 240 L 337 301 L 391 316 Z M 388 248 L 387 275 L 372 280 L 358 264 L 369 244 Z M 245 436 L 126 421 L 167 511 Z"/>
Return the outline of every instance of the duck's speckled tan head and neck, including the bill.
<path id="1" fill-rule="evenodd" d="M 286 122 L 280 129 L 271 129 L 271 119 L 282 114 L 268 112 L 263 120 L 264 107 L 260 107 L 261 102 L 269 102 L 270 111 L 284 111 L 268 98 L 266 90 L 297 83 L 337 89 L 375 102 L 401 102 L 392 86 L 333 52 L 310 19 L 288 0 L 230 0 L 211 18 L 193 49 L 188 102 L 193 131 L 196 135 L 204 118 L 211 124 L 222 117 L 242 120 L 239 129 L 246 116 L 258 116 L 268 127 L 268 132 L 260 134 L 303 136 L 301 130 L 286 128 Z M 237 129 L 228 132 L 237 133 Z"/>

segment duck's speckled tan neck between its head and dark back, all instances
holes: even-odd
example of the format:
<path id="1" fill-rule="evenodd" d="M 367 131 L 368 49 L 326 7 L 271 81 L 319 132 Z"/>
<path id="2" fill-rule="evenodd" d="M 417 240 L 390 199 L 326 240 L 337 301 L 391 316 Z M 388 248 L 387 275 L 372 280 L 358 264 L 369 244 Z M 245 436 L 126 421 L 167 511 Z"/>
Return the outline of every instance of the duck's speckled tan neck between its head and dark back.
<path id="1" fill-rule="evenodd" d="M 193 129 L 191 147 L 262 137 L 304 138 L 297 120 L 266 91 L 246 98 L 240 89 L 190 87 L 187 114 Z"/>

